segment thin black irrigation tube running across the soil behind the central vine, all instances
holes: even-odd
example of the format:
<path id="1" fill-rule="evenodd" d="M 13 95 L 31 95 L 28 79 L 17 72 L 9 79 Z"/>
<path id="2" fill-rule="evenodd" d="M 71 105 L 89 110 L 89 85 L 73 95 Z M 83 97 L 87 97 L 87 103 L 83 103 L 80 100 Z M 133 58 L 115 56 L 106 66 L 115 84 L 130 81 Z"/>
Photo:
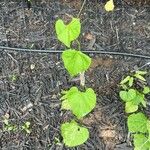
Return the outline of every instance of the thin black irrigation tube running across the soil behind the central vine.
<path id="1" fill-rule="evenodd" d="M 53 48 L 40 50 L 40 49 L 14 48 L 14 47 L 5 47 L 5 46 L 0 46 L 0 51 L 37 52 L 37 53 L 62 53 L 63 52 L 63 50 L 55 50 Z M 146 55 L 131 54 L 131 53 L 119 53 L 119 52 L 112 52 L 112 51 L 86 50 L 86 51 L 82 51 L 82 52 L 89 53 L 89 54 L 120 55 L 120 56 L 150 59 L 150 56 L 146 56 Z"/>

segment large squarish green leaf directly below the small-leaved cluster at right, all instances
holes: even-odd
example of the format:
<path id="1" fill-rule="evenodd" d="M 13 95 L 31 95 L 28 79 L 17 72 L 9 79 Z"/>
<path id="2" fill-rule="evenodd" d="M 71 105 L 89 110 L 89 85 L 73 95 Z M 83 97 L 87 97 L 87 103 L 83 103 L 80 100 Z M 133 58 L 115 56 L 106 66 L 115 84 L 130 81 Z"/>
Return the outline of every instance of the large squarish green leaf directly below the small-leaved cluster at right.
<path id="1" fill-rule="evenodd" d="M 128 117 L 129 132 L 147 132 L 147 118 L 143 113 L 134 113 Z"/>

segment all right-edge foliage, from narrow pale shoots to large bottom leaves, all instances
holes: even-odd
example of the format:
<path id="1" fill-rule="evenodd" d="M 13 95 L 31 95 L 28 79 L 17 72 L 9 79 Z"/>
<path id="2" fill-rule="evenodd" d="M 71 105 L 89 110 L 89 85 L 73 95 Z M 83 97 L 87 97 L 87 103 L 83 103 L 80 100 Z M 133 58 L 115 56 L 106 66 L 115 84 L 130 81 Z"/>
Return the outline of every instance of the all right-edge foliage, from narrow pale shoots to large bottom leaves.
<path id="1" fill-rule="evenodd" d="M 123 90 L 120 91 L 120 98 L 125 102 L 126 113 L 133 113 L 138 110 L 139 104 L 146 107 L 145 94 L 150 93 L 150 88 L 146 85 L 145 71 L 136 71 L 132 76 L 127 76 L 120 82 Z M 134 88 L 134 82 L 143 83 L 139 91 Z M 141 112 L 128 116 L 127 126 L 133 135 L 134 150 L 150 150 L 150 120 Z"/>

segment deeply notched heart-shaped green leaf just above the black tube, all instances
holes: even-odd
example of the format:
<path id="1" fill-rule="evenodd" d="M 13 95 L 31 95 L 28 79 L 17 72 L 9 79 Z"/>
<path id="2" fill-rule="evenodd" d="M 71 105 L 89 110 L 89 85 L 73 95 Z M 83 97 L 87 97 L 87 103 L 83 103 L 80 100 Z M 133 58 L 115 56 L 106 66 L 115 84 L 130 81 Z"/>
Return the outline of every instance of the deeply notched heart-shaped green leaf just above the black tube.
<path id="1" fill-rule="evenodd" d="M 64 22 L 59 19 L 55 24 L 55 30 L 58 39 L 67 47 L 70 47 L 71 42 L 77 39 L 80 34 L 80 20 L 72 18 L 72 21 L 68 25 L 65 25 Z"/>

